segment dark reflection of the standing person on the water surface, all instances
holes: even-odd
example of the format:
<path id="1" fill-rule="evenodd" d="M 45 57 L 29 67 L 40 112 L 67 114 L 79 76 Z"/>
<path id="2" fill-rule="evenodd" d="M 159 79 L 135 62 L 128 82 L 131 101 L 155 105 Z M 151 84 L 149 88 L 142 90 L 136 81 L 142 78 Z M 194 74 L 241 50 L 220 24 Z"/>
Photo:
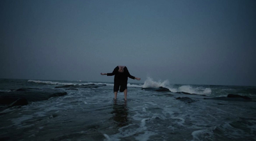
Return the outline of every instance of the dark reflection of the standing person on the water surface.
<path id="1" fill-rule="evenodd" d="M 118 102 L 117 100 L 114 100 L 113 103 L 113 111 L 111 114 L 113 114 L 113 119 L 118 127 L 127 126 L 129 124 L 129 118 L 128 116 L 128 107 L 127 107 L 127 101 Z"/>

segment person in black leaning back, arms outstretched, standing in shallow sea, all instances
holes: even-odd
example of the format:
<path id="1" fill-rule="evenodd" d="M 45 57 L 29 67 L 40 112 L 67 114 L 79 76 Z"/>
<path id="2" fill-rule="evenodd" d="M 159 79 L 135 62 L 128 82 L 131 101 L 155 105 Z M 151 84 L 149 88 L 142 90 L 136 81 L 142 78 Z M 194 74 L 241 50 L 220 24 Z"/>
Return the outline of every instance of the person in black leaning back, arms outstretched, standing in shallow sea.
<path id="1" fill-rule="evenodd" d="M 112 73 L 100 73 L 101 75 L 113 76 L 114 78 L 114 93 L 115 100 L 117 97 L 118 90 L 124 92 L 124 100 L 127 100 L 127 81 L 128 77 L 136 80 L 140 80 L 138 77 L 132 76 L 126 66 L 116 66 Z M 119 89 L 120 88 L 120 89 Z"/>

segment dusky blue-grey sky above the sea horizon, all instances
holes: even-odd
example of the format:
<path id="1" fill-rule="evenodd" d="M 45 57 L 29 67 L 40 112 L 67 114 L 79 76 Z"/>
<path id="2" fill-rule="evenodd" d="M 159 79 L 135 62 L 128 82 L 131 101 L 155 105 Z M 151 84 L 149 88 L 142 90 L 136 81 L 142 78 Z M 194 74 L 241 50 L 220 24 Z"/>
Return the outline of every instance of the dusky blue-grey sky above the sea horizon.
<path id="1" fill-rule="evenodd" d="M 0 78 L 256 85 L 254 0 L 1 0 Z"/>

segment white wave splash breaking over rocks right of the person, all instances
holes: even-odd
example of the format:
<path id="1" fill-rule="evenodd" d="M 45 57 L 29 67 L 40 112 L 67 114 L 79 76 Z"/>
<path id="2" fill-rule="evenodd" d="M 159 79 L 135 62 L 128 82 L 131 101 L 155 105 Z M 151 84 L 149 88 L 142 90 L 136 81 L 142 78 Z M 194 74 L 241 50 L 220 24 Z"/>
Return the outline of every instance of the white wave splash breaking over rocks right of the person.
<path id="1" fill-rule="evenodd" d="M 142 87 L 143 88 L 165 87 L 170 91 L 172 91 L 173 93 L 178 93 L 178 92 L 184 92 L 184 93 L 190 93 L 190 94 L 211 94 L 212 93 L 211 88 L 192 87 L 191 85 L 181 85 L 180 87 L 173 87 L 172 85 L 170 85 L 170 82 L 168 80 L 164 80 L 163 82 L 159 80 L 158 82 L 156 82 L 150 77 L 147 77 L 147 80 L 145 80 Z"/>

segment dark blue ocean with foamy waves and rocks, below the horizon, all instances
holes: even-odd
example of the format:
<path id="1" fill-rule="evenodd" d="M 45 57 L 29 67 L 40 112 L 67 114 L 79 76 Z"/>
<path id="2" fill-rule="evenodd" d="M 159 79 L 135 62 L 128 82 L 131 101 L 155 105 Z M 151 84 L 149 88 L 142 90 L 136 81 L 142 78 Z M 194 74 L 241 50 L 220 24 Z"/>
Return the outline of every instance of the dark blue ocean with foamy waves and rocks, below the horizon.
<path id="1" fill-rule="evenodd" d="M 255 86 L 141 82 L 0 79 L 0 140 L 256 140 Z"/>

